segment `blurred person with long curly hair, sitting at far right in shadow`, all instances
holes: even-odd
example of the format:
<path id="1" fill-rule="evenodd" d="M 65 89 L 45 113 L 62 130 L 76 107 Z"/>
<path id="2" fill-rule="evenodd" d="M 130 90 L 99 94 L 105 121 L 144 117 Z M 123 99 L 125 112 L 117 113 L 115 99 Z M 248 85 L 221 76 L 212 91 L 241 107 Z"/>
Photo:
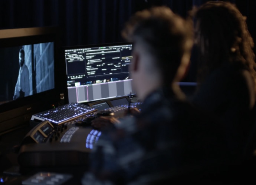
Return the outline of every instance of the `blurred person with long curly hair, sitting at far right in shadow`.
<path id="1" fill-rule="evenodd" d="M 198 88 L 193 103 L 213 113 L 233 154 L 251 155 L 256 108 L 256 64 L 246 17 L 225 1 L 191 11 L 198 48 Z"/>

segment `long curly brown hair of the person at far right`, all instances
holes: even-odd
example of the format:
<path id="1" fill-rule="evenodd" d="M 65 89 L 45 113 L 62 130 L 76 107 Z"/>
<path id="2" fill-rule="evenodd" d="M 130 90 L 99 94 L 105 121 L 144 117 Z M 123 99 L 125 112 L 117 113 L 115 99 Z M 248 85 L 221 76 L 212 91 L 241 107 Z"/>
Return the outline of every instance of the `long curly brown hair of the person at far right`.
<path id="1" fill-rule="evenodd" d="M 198 64 L 201 69 L 198 80 L 203 81 L 211 71 L 229 62 L 250 71 L 256 84 L 253 38 L 246 17 L 236 5 L 227 1 L 208 1 L 199 8 L 194 7 L 190 15 L 199 26 L 195 35 L 204 47 Z"/>

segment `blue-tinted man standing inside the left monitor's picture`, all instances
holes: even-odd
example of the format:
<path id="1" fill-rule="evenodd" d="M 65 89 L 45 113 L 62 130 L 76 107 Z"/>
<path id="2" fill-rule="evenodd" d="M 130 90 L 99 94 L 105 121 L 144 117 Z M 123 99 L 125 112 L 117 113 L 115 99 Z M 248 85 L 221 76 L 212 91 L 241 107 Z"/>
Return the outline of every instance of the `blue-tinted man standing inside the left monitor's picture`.
<path id="1" fill-rule="evenodd" d="M 20 70 L 18 80 L 15 86 L 13 100 L 29 95 L 29 69 L 25 64 L 25 52 L 23 48 L 19 51 Z"/>

